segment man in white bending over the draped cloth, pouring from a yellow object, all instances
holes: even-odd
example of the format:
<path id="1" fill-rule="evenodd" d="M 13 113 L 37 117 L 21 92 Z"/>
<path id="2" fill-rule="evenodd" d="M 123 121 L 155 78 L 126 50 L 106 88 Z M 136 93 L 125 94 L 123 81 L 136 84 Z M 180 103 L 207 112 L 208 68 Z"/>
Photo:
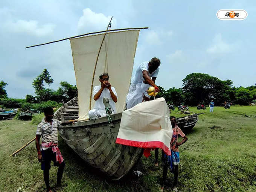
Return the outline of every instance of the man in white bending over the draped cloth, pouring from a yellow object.
<path id="1" fill-rule="evenodd" d="M 136 70 L 133 82 L 130 85 L 129 93 L 126 96 L 126 108 L 130 109 L 135 105 L 142 102 L 143 97 L 146 101 L 150 96 L 147 94 L 147 90 L 150 86 L 155 87 L 155 92 L 159 91 L 157 85 L 155 85 L 155 79 L 159 72 L 160 59 L 154 57 L 149 62 L 142 62 Z M 151 79 L 152 77 L 152 79 Z"/>

